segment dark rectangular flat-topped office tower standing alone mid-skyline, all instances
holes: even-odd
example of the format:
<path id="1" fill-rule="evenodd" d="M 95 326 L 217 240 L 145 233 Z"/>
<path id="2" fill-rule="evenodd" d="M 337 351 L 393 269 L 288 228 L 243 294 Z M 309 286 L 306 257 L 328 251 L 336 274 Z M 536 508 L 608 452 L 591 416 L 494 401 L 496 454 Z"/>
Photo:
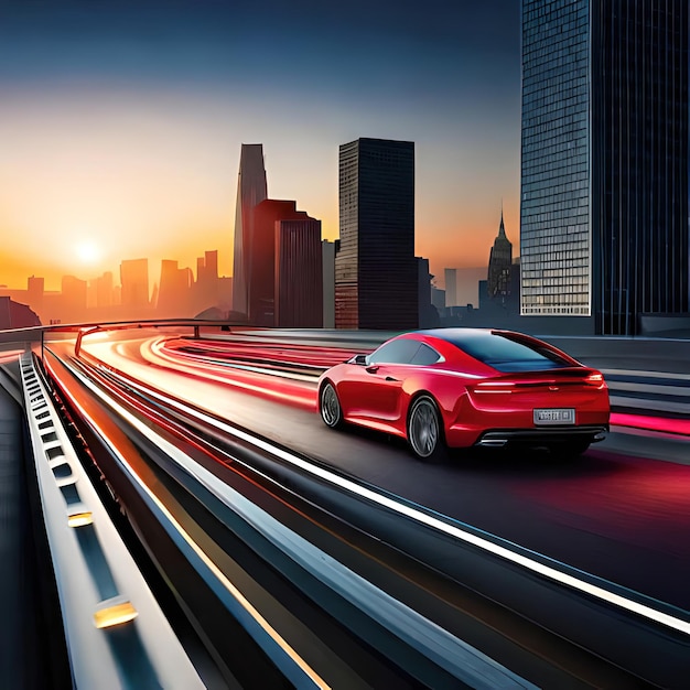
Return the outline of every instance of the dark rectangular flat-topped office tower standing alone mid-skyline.
<path id="1" fill-rule="evenodd" d="M 341 145 L 339 226 L 336 328 L 417 328 L 413 142 Z"/>

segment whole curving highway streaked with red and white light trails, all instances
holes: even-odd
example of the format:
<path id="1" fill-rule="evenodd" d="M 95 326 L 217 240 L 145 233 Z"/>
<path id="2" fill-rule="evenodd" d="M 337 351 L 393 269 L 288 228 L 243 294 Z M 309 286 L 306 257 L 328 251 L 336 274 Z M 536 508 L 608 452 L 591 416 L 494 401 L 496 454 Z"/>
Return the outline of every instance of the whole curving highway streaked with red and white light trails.
<path id="1" fill-rule="evenodd" d="M 665 351 L 650 367 L 634 348 L 587 355 L 607 370 L 622 423 L 576 465 L 499 455 L 430 467 L 396 442 L 334 434 L 313 411 L 324 357 L 370 349 L 386 334 L 144 325 L 85 335 L 78 357 L 74 333 L 51 335 L 36 364 L 119 531 L 143 545 L 138 565 L 158 582 L 154 597 L 202 683 L 251 687 L 267 673 L 263 687 L 681 687 L 682 356 Z M 166 513 L 192 519 L 185 533 L 278 637 L 251 634 L 228 589 L 218 593 L 193 559 L 171 596 L 181 547 Z M 152 546 L 161 529 L 172 543 L 162 554 Z M 236 649 L 223 643 L 228 630 L 245 640 Z M 285 648 L 299 651 L 299 671 Z"/>

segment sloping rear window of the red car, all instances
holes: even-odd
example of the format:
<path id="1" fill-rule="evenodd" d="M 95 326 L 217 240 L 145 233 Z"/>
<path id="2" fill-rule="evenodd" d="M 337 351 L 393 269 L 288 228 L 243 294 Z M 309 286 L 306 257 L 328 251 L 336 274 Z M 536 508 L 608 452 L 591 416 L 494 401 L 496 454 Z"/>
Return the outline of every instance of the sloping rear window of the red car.
<path id="1" fill-rule="evenodd" d="M 550 348 L 514 339 L 515 336 L 507 333 L 467 331 L 448 336 L 442 334 L 440 337 L 498 371 L 529 371 L 572 366 Z"/>

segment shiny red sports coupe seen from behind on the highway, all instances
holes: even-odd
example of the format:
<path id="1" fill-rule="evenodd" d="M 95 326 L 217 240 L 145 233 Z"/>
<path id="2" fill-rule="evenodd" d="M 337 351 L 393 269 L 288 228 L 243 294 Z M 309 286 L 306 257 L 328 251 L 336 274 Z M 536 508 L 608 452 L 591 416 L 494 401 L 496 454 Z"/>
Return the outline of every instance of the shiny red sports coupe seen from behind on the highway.
<path id="1" fill-rule="evenodd" d="M 319 411 L 408 440 L 420 459 L 446 448 L 525 444 L 583 453 L 608 430 L 608 389 L 538 338 L 511 331 L 434 328 L 398 335 L 326 370 Z"/>

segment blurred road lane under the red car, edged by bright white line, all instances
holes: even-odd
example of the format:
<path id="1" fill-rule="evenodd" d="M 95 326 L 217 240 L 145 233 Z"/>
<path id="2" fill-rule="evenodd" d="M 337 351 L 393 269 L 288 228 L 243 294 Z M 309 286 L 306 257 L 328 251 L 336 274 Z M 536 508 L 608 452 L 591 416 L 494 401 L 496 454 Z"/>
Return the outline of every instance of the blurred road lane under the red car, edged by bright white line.
<path id="1" fill-rule="evenodd" d="M 308 384 L 290 403 L 234 385 L 233 370 L 219 365 L 176 370 L 151 349 L 160 333 L 99 337 L 85 339 L 84 349 L 160 390 L 438 513 L 690 611 L 690 439 L 614 428 L 576 461 L 485 451 L 427 465 L 398 440 L 327 429 Z M 74 352 L 71 343 L 51 347 Z M 274 378 L 259 379 L 267 390 L 280 388 Z"/>

